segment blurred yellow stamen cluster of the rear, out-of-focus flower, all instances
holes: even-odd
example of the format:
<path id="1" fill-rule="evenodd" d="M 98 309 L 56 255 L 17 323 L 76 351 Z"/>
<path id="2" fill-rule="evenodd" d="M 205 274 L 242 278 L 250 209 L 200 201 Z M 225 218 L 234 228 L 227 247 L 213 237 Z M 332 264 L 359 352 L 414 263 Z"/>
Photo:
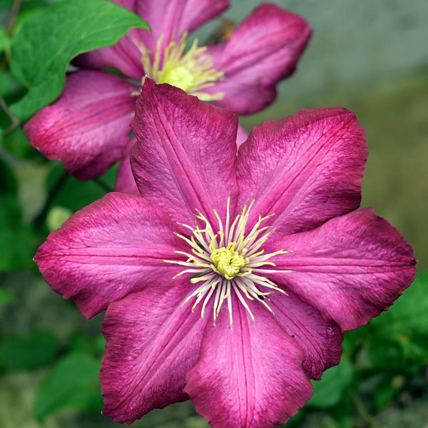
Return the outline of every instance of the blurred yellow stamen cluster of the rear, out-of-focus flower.
<path id="1" fill-rule="evenodd" d="M 225 73 L 214 68 L 212 58 L 205 54 L 207 47 L 198 46 L 197 40 L 193 41 L 187 52 L 184 52 L 186 36 L 187 34 L 183 34 L 178 42 L 171 41 L 164 50 L 162 49 L 163 36 L 161 36 L 156 45 L 153 63 L 151 52 L 144 51 L 141 61 L 146 76 L 153 78 L 157 83 L 177 86 L 191 95 L 198 96 L 202 101 L 222 99 L 223 92 L 205 93 L 202 90 L 222 80 Z"/>

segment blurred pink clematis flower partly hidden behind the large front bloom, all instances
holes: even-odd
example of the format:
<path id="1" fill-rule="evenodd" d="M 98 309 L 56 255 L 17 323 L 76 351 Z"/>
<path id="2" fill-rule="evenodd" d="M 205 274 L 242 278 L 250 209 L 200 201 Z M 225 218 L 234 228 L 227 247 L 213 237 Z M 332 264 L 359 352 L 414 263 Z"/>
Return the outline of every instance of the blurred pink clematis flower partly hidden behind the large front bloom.
<path id="1" fill-rule="evenodd" d="M 295 70 L 310 38 L 305 19 L 262 4 L 228 41 L 189 49 L 185 39 L 228 8 L 228 0 L 115 0 L 153 29 L 131 30 L 115 46 L 77 58 L 87 68 L 68 75 L 62 95 L 25 126 L 32 146 L 83 180 L 125 159 L 118 190 L 136 193 L 126 180 L 129 124 L 145 76 L 170 83 L 204 101 L 249 114 L 275 99 L 276 85 Z M 117 68 L 124 78 L 101 68 Z M 128 175 L 129 177 L 129 175 Z"/>

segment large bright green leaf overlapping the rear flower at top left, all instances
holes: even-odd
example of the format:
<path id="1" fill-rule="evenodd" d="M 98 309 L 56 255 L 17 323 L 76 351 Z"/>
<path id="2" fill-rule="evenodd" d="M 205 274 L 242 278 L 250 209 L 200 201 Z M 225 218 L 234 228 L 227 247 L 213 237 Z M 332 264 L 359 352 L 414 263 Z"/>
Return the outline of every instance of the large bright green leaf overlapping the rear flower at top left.
<path id="1" fill-rule="evenodd" d="M 24 119 L 51 103 L 61 93 L 72 58 L 111 46 L 136 27 L 150 28 L 108 0 L 58 1 L 29 17 L 11 44 L 11 71 L 29 92 L 11 110 Z"/>

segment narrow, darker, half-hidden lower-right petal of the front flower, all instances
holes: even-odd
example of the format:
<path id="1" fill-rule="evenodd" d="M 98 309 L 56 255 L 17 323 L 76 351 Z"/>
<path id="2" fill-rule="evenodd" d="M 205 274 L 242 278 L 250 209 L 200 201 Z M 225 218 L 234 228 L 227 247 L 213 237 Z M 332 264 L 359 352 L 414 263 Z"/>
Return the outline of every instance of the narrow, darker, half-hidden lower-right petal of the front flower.
<path id="1" fill-rule="evenodd" d="M 290 291 L 287 296 L 274 294 L 269 299 L 278 324 L 302 349 L 308 377 L 320 379 L 324 370 L 339 364 L 343 332 L 336 322 L 325 320 L 315 307 Z"/>

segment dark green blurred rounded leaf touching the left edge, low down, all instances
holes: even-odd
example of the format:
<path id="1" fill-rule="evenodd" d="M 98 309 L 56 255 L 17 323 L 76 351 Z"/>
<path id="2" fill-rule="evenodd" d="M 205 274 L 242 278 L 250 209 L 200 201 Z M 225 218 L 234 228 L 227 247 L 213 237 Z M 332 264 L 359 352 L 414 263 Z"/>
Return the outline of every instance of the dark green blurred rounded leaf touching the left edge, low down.
<path id="1" fill-rule="evenodd" d="M 59 349 L 52 332 L 6 336 L 0 341 L 0 365 L 7 370 L 34 370 L 53 361 Z"/>

